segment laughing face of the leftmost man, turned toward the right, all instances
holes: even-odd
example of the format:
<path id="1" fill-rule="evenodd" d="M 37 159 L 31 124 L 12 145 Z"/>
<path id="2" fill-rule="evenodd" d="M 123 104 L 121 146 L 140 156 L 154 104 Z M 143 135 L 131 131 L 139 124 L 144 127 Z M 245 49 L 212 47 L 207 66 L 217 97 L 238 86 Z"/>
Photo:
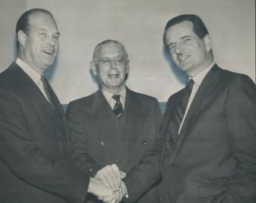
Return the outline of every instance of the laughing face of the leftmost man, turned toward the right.
<path id="1" fill-rule="evenodd" d="M 59 32 L 55 21 L 45 13 L 32 14 L 27 34 L 22 31 L 19 34 L 20 44 L 23 43 L 20 58 L 38 73 L 43 73 L 52 65 L 58 51 Z"/>

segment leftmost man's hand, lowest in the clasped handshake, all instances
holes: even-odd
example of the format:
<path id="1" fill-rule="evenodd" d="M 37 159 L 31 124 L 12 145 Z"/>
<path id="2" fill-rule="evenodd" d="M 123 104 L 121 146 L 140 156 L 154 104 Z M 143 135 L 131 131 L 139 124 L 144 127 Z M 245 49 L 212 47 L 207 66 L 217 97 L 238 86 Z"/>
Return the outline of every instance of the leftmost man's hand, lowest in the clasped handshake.
<path id="1" fill-rule="evenodd" d="M 114 194 L 114 192 L 105 187 L 104 183 L 101 180 L 97 180 L 96 178 L 90 178 L 90 183 L 88 186 L 88 193 L 92 193 L 97 196 L 100 200 L 104 202 L 117 202 L 118 196 Z"/>

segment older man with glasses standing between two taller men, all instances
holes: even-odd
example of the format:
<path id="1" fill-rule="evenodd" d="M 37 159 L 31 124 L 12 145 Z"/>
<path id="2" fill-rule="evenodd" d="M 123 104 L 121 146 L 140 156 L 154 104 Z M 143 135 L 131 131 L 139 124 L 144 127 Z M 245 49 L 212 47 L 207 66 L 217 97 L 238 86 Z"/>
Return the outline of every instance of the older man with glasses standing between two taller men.
<path id="1" fill-rule="evenodd" d="M 153 143 L 162 116 L 156 98 L 125 87 L 128 69 L 128 53 L 121 43 L 107 40 L 96 46 L 92 73 L 100 89 L 67 108 L 74 161 L 81 169 L 89 165 L 91 176 L 121 198 L 128 194 L 125 201 L 157 203 L 160 151 Z M 88 202 L 96 202 L 92 199 Z"/>

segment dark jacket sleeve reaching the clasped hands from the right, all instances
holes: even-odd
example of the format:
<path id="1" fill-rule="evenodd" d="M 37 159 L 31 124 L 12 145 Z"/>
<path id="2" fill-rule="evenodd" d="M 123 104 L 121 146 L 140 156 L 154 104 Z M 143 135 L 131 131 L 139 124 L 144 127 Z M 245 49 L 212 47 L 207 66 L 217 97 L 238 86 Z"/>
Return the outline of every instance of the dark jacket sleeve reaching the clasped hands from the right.
<path id="1" fill-rule="evenodd" d="M 124 183 L 128 189 L 128 202 L 134 202 L 142 196 L 152 185 L 160 180 L 159 157 L 162 140 L 160 134 L 157 134 L 162 122 L 157 100 L 154 102 L 154 118 L 157 126 L 155 141 L 150 148 L 126 176 Z"/>

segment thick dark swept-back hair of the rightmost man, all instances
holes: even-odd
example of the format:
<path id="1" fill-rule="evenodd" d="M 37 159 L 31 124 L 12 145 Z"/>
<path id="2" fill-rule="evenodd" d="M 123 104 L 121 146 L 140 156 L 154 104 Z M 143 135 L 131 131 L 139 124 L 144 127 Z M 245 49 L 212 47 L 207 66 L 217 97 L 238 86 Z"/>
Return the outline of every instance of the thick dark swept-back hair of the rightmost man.
<path id="1" fill-rule="evenodd" d="M 203 20 L 200 19 L 200 16 L 194 14 L 184 14 L 176 16 L 168 21 L 168 23 L 164 27 L 164 44 L 166 31 L 175 24 L 182 23 L 184 21 L 189 21 L 193 23 L 193 31 L 195 34 L 197 34 L 198 37 L 200 37 L 200 39 L 204 38 L 206 34 L 209 34 L 207 27 L 205 26 Z"/>

